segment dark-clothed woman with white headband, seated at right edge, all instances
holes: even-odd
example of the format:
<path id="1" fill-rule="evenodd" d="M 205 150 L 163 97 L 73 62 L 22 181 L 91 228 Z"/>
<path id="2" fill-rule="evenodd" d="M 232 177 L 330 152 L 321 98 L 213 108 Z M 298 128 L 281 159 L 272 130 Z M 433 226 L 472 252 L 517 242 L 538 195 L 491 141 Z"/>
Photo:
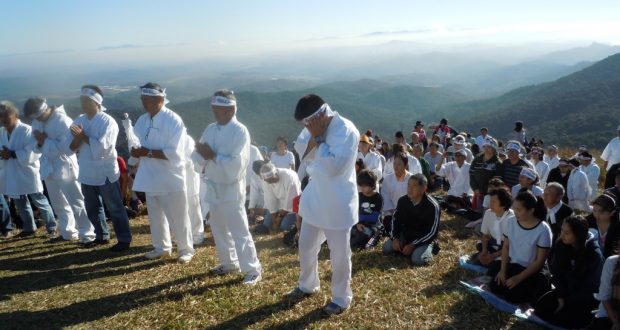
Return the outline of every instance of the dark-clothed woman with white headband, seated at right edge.
<path id="1" fill-rule="evenodd" d="M 597 233 L 598 244 L 605 258 L 616 254 L 620 242 L 620 218 L 616 202 L 611 196 L 600 195 L 592 202 L 592 215 L 588 216 L 590 228 Z"/>

